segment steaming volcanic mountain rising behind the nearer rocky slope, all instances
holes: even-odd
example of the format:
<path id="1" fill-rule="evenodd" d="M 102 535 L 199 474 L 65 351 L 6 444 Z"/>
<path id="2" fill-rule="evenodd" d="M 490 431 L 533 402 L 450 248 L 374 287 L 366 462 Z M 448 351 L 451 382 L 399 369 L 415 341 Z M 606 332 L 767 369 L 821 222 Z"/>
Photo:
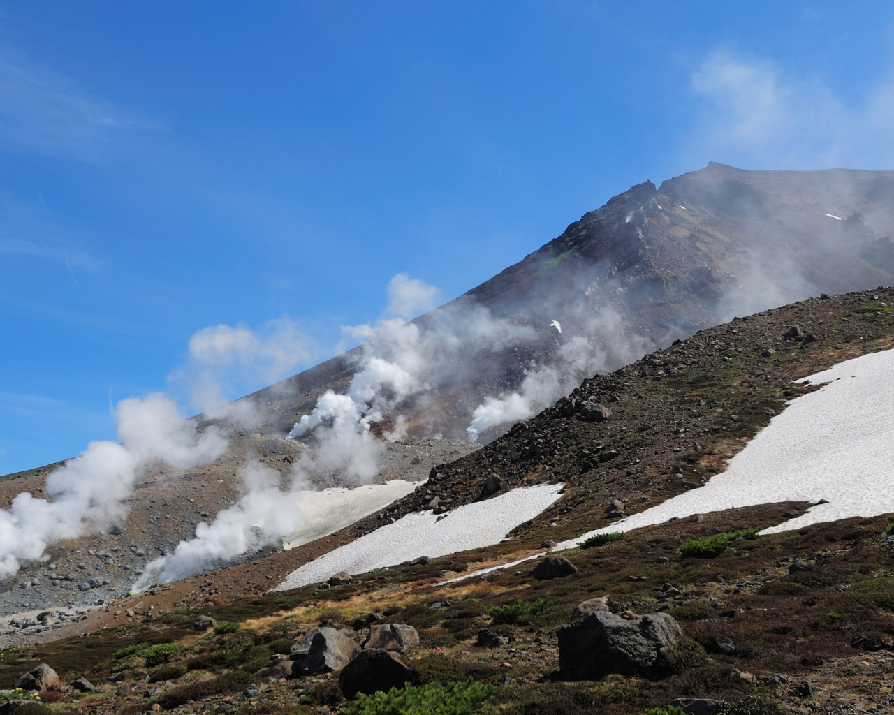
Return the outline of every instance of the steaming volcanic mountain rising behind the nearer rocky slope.
<path id="1" fill-rule="evenodd" d="M 204 467 L 159 462 L 144 469 L 127 498 L 129 516 L 114 529 L 124 534 L 123 547 L 112 552 L 102 545 L 111 524 L 85 526 L 83 536 L 48 551 L 55 571 L 72 577 L 51 578 L 44 564 L 26 563 L 0 583 L 2 610 L 120 596 L 149 560 L 240 501 L 237 472 L 246 462 L 274 469 L 284 483 L 309 455 L 337 451 L 320 433 L 347 413 L 327 411 L 325 403 L 347 405 L 375 438 L 373 463 L 363 466 L 367 481 L 369 475 L 421 480 L 432 467 L 476 450 L 469 436 L 492 441 L 584 378 L 697 330 L 792 300 L 894 283 L 892 231 L 894 172 L 747 172 L 710 164 L 658 188 L 639 184 L 451 303 L 409 324 L 384 324 L 358 349 L 249 395 L 232 410 L 195 418 L 200 430 L 220 430 L 229 449 Z M 293 429 L 302 416 L 316 422 Z M 542 456 L 554 449 L 551 440 L 537 433 L 511 449 Z M 346 452 L 355 454 L 350 444 Z M 599 460 L 593 450 L 578 458 Z M 487 459 L 487 468 L 501 471 L 503 457 Z M 308 488 L 358 482 L 345 462 L 315 464 Z M 4 508 L 20 492 L 39 498 L 49 471 L 4 478 Z M 510 468 L 502 476 L 521 484 L 527 471 L 521 472 Z M 477 499 L 471 473 L 458 474 L 466 476 L 453 498 Z M 413 494 L 390 518 L 421 505 L 426 492 L 413 490 L 407 487 L 404 493 Z M 373 504 L 367 513 L 378 509 Z M 333 517 L 329 531 L 355 517 Z M 247 558 L 257 558 L 257 541 L 248 543 Z M 313 552 L 325 550 L 324 542 L 314 543 Z M 278 548 L 271 544 L 267 552 Z M 98 585 L 79 590 L 93 583 L 88 576 Z"/>

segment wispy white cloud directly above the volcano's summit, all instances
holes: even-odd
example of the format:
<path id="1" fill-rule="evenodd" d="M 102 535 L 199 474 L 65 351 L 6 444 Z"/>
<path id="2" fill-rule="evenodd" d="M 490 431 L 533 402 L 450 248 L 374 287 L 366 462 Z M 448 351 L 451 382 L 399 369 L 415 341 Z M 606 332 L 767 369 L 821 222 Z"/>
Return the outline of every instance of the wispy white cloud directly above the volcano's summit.
<path id="1" fill-rule="evenodd" d="M 698 105 L 685 154 L 746 168 L 890 168 L 894 75 L 867 87 L 846 101 L 821 77 L 717 51 L 691 72 Z"/>

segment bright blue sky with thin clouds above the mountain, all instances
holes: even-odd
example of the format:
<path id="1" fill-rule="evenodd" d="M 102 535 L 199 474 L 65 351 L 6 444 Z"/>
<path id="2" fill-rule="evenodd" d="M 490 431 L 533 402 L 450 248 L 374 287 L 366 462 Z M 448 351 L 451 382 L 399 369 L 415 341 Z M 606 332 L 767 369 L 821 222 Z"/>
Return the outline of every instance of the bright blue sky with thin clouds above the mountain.
<path id="1" fill-rule="evenodd" d="M 894 168 L 890 4 L 726 5 L 0 0 L 0 474 L 130 395 L 195 410 L 203 356 L 226 398 L 330 357 L 395 274 L 451 299 L 640 181 Z"/>

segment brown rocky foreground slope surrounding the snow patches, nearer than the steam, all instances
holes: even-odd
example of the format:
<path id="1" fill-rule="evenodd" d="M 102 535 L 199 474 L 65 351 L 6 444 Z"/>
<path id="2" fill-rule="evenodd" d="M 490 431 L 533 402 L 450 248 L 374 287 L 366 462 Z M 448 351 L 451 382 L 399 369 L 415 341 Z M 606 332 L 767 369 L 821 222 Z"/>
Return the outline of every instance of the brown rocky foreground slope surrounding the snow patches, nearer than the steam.
<path id="1" fill-rule="evenodd" d="M 894 289 L 806 299 L 743 315 L 592 376 L 481 450 L 436 466 L 413 494 L 331 537 L 156 586 L 56 630 L 53 613 L 11 627 L 20 647 L 3 652 L 0 684 L 12 685 L 44 660 L 63 680 L 87 676 L 105 692 L 49 694 L 72 701 L 72 711 L 133 712 L 153 702 L 163 708 L 186 702 L 191 711 L 339 711 L 346 703 L 335 675 L 270 680 L 261 666 L 289 652 L 310 627 L 344 627 L 359 640 L 369 624 L 397 623 L 417 630 L 419 644 L 401 659 L 422 683 L 473 677 L 492 684 L 487 712 L 638 713 L 676 697 L 710 697 L 743 713 L 889 711 L 894 548 L 886 517 L 751 538 L 749 530 L 780 523 L 806 505 L 731 509 L 566 551 L 575 570 L 563 576 L 538 578 L 532 564 L 522 564 L 485 579 L 443 581 L 544 552 L 548 540 L 695 488 L 787 401 L 815 389 L 792 380 L 894 348 L 892 304 Z M 611 416 L 601 420 L 595 404 L 609 407 Z M 542 482 L 566 488 L 551 509 L 496 546 L 338 585 L 266 593 L 308 559 L 384 520 L 428 509 L 436 496 L 453 504 L 487 499 L 493 474 L 501 478 L 498 493 Z M 738 535 L 716 554 L 687 556 L 681 549 L 687 540 L 716 534 Z M 108 543 L 126 547 L 129 538 L 111 534 Z M 684 639 L 659 669 L 592 680 L 563 673 L 557 631 L 578 603 L 603 596 L 620 614 L 662 612 L 677 620 Z M 495 609 L 519 601 L 532 608 L 514 617 Z M 202 635 L 192 626 L 197 614 L 240 627 Z M 482 640 L 482 628 L 495 636 Z M 140 643 L 144 655 L 122 650 Z M 152 644 L 172 645 L 156 655 L 147 650 Z"/>

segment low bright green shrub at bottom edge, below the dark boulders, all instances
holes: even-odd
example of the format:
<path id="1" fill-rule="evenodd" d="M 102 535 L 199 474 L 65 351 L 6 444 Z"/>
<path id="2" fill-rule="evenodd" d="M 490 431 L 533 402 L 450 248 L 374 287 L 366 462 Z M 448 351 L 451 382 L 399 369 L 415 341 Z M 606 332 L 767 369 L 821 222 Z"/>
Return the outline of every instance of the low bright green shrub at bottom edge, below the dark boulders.
<path id="1" fill-rule="evenodd" d="M 429 683 L 427 686 L 392 687 L 387 693 L 358 694 L 357 704 L 345 715 L 470 715 L 493 694 L 493 686 L 469 678 L 464 683 Z"/>

